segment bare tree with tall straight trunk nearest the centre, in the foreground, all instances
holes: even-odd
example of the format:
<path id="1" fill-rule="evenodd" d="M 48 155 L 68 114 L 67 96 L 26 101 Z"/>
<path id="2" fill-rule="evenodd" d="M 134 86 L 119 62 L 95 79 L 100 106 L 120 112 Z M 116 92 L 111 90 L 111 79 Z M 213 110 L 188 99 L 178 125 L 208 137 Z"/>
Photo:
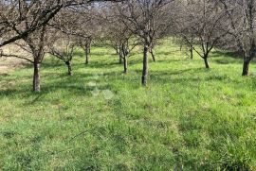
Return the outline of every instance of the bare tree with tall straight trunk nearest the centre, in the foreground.
<path id="1" fill-rule="evenodd" d="M 171 2 L 172 0 L 128 0 L 118 7 L 121 21 L 137 35 L 143 45 L 142 85 L 147 85 L 148 53 L 154 47 L 155 37 L 168 26 L 164 19 L 168 16 L 167 7 Z"/>

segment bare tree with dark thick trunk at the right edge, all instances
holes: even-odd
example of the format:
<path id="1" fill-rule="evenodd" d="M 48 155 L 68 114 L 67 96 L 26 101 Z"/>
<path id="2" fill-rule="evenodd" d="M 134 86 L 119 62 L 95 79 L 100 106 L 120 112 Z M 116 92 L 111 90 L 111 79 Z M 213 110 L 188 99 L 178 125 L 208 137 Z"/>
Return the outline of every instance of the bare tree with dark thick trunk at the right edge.
<path id="1" fill-rule="evenodd" d="M 255 44 L 255 0 L 220 0 L 228 15 L 229 35 L 237 44 L 237 50 L 244 58 L 243 76 L 248 75 L 250 61 L 256 53 Z"/>

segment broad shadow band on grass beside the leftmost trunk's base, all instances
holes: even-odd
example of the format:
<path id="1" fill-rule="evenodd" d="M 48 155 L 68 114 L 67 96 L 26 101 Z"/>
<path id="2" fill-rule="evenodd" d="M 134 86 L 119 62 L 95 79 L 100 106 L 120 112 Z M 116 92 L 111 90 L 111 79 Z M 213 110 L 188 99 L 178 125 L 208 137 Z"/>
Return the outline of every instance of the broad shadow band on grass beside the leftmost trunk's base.
<path id="1" fill-rule="evenodd" d="M 5 90 L 0 90 L 0 97 L 20 97 L 32 98 L 29 104 L 34 104 L 42 100 L 46 94 L 51 94 L 54 92 L 62 92 L 65 95 L 76 95 L 76 96 L 87 96 L 91 95 L 96 89 L 99 90 L 112 90 L 112 81 L 121 78 L 116 72 L 106 72 L 102 76 L 97 78 L 94 74 L 77 74 L 72 77 L 66 76 L 65 74 L 58 75 L 56 73 L 47 73 L 44 76 L 44 84 L 41 87 L 41 93 L 33 93 L 31 91 L 32 85 L 23 84 L 19 87 L 8 88 Z M 96 79 L 95 79 L 96 77 Z M 115 82 L 115 81 L 114 81 Z M 90 85 L 96 84 L 96 85 Z"/>

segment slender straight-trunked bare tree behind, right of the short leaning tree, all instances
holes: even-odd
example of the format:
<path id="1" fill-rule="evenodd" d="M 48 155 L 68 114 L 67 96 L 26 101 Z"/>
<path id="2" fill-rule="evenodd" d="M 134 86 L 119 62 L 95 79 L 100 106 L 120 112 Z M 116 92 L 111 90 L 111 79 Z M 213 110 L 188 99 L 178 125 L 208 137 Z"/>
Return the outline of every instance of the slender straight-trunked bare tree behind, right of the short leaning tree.
<path id="1" fill-rule="evenodd" d="M 101 19 L 98 10 L 94 4 L 76 9 L 63 9 L 48 24 L 64 34 L 76 38 L 77 45 L 84 51 L 85 64 L 89 63 L 93 40 L 101 33 Z"/>

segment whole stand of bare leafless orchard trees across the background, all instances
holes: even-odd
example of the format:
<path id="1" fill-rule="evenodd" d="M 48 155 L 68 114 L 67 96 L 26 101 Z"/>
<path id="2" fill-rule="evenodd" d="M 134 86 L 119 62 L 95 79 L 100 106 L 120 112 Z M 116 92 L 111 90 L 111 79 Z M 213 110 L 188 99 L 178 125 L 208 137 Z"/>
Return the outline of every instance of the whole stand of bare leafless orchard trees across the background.
<path id="1" fill-rule="evenodd" d="M 240 53 L 247 76 L 256 52 L 255 8 L 256 0 L 0 0 L 1 57 L 31 62 L 33 90 L 40 92 L 46 53 L 63 60 L 72 75 L 74 49 L 84 50 L 88 64 L 91 44 L 104 43 L 117 51 L 127 73 L 131 51 L 141 46 L 141 83 L 146 85 L 149 54 L 155 61 L 158 41 L 175 37 L 206 68 L 213 47 Z M 6 53 L 9 44 L 20 51 Z"/>

